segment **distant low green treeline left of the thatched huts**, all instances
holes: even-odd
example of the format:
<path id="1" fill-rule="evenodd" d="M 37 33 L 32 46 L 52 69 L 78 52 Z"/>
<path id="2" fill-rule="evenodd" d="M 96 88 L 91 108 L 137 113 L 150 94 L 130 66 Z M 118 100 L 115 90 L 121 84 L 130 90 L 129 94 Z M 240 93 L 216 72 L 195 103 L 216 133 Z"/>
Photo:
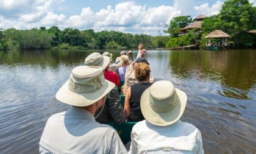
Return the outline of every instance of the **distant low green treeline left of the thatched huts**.
<path id="1" fill-rule="evenodd" d="M 159 38 L 150 35 L 94 30 L 78 30 L 66 28 L 60 30 L 57 26 L 49 29 L 16 30 L 0 29 L 0 49 L 104 49 L 104 48 L 133 48 L 138 43 L 144 43 L 146 47 L 164 47 Z"/>

